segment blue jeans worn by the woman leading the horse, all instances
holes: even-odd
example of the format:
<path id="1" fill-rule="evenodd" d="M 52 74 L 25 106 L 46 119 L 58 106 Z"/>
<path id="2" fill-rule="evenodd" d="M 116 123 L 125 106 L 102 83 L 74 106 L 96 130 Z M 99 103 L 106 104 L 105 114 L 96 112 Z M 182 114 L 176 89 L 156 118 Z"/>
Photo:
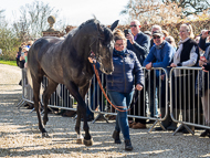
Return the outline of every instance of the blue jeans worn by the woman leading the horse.
<path id="1" fill-rule="evenodd" d="M 127 109 L 127 107 L 132 103 L 133 94 L 134 91 L 132 91 L 130 93 L 119 93 L 119 92 L 108 91 L 108 96 L 111 97 L 112 103 L 116 106 L 123 106 L 123 108 L 119 108 L 122 110 Z M 122 130 L 125 140 L 130 139 L 127 112 L 117 110 L 115 130 L 117 131 Z"/>

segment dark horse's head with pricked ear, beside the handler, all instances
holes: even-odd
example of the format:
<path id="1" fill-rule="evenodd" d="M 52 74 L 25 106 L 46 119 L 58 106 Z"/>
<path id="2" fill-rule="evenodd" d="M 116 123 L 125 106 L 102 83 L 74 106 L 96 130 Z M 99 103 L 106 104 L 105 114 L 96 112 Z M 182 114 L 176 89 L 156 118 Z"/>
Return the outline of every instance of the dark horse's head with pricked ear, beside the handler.
<path id="1" fill-rule="evenodd" d="M 97 23 L 97 42 L 91 48 L 95 50 L 96 60 L 101 65 L 101 71 L 105 74 L 112 74 L 114 71 L 113 65 L 113 49 L 114 49 L 114 38 L 113 30 L 117 27 L 118 20 L 115 21 L 111 29 L 105 25 Z"/>

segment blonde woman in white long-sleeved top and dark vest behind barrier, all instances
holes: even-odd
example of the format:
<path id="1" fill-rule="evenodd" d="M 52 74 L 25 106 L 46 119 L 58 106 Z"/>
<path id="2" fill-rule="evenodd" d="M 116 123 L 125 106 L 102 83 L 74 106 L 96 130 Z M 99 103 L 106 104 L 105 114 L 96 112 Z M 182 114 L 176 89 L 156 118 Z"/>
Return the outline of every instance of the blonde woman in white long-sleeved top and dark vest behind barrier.
<path id="1" fill-rule="evenodd" d="M 195 35 L 191 25 L 181 24 L 179 35 L 181 40 L 178 43 L 178 50 L 174 55 L 174 62 L 170 66 L 198 65 L 198 44 L 192 40 Z M 172 80 L 172 112 L 175 119 L 179 118 L 179 109 L 182 109 L 182 122 L 195 123 L 196 120 L 195 114 L 198 103 L 193 93 L 196 76 L 196 72 L 192 74 L 192 71 L 175 70 L 175 77 Z M 191 127 L 191 129 L 192 131 L 195 130 L 193 127 Z M 185 129 L 183 133 L 188 133 L 188 130 Z"/>

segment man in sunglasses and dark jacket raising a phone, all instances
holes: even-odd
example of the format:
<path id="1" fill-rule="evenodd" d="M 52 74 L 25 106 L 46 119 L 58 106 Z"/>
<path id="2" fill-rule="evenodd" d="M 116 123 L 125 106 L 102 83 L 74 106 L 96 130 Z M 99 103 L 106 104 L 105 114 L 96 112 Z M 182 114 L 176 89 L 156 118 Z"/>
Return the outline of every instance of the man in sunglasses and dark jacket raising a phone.
<path id="1" fill-rule="evenodd" d="M 127 39 L 127 49 L 135 52 L 139 63 L 143 65 L 146 56 L 149 53 L 149 36 L 140 31 L 140 22 L 138 20 L 133 20 L 129 27 L 130 33 L 128 31 L 126 32 L 126 30 L 124 31 Z M 144 114 L 146 114 L 144 98 L 144 92 L 141 92 L 139 101 L 135 104 L 135 112 L 132 109 L 130 115 L 144 116 Z M 138 112 L 140 112 L 140 114 Z M 146 128 L 146 119 L 135 118 L 135 122 L 133 122 L 133 118 L 129 118 L 129 127 L 134 129 Z"/>

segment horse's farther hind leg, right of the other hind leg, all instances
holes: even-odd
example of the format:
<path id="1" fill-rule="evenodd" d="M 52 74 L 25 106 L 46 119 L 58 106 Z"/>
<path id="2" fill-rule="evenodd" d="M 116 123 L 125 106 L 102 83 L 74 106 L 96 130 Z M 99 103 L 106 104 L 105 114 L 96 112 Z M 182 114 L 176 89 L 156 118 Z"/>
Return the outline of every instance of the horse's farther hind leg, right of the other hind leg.
<path id="1" fill-rule="evenodd" d="M 43 104 L 44 104 L 44 116 L 43 116 L 43 124 L 46 125 L 49 122 L 48 117 L 48 103 L 51 97 L 51 94 L 56 89 L 57 83 L 49 78 L 48 86 L 43 93 Z"/>

